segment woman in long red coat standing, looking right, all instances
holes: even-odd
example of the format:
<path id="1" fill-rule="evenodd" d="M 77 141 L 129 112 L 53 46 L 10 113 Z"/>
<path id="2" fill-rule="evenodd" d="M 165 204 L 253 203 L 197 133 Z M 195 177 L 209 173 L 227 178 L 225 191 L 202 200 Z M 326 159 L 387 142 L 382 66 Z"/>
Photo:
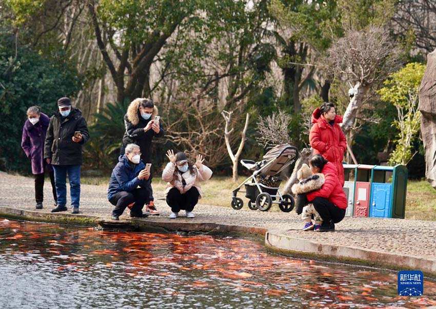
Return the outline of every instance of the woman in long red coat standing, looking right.
<path id="1" fill-rule="evenodd" d="M 328 162 L 335 165 L 339 182 L 344 186 L 344 153 L 347 141 L 339 126 L 342 116 L 336 115 L 333 103 L 324 103 L 312 113 L 313 126 L 310 129 L 309 142 L 313 154 L 321 154 Z"/>

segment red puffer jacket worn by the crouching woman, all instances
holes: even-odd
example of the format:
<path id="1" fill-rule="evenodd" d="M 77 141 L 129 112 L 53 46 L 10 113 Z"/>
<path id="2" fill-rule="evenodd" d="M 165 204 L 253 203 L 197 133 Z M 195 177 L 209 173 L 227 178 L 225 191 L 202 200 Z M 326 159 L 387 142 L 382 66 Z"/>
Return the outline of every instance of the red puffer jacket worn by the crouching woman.
<path id="1" fill-rule="evenodd" d="M 331 203 L 341 209 L 347 209 L 347 197 L 339 182 L 336 167 L 331 162 L 327 162 L 321 173 L 325 176 L 325 182 L 321 189 L 310 192 L 307 194 L 307 200 L 313 201 L 316 197 L 326 198 Z"/>

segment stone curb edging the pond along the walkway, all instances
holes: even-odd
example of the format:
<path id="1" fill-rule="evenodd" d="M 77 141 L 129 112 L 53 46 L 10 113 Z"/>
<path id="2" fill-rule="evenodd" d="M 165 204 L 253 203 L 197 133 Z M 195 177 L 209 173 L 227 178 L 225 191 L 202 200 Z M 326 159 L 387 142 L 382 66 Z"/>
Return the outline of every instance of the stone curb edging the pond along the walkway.
<path id="1" fill-rule="evenodd" d="M 158 233 L 174 231 L 200 231 L 208 234 L 251 235 L 264 238 L 268 250 L 290 257 L 312 258 L 324 261 L 348 262 L 355 265 L 382 266 L 390 269 L 420 269 L 426 276 L 436 278 L 436 259 L 425 259 L 407 255 L 390 254 L 366 250 L 358 247 L 321 244 L 306 239 L 298 239 L 280 233 L 273 233 L 261 227 L 231 224 L 217 224 L 202 221 L 162 221 L 162 218 L 131 219 L 114 221 L 97 216 L 72 215 L 68 213 L 41 213 L 0 206 L 0 217 L 50 222 L 67 225 L 101 226 L 121 230 L 141 230 Z"/>

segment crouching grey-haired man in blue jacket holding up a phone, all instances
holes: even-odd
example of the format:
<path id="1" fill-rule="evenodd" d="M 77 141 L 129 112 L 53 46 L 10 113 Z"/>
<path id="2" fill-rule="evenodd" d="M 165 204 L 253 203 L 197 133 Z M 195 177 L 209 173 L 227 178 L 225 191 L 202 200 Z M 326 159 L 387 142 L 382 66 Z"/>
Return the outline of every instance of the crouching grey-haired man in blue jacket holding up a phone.
<path id="1" fill-rule="evenodd" d="M 128 144 L 126 153 L 118 158 L 113 168 L 108 188 L 108 200 L 115 208 L 112 219 L 119 220 L 124 209 L 132 205 L 130 217 L 147 217 L 142 208 L 149 202 L 150 171 L 141 161 L 141 150 L 138 145 Z"/>

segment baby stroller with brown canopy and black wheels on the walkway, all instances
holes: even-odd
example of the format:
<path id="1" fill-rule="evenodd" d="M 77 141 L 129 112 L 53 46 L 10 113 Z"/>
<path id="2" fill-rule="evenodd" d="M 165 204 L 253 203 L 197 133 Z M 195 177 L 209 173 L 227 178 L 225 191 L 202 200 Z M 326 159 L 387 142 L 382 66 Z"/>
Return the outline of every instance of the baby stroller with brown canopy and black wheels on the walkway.
<path id="1" fill-rule="evenodd" d="M 249 199 L 248 208 L 251 210 L 268 211 L 272 204 L 279 204 L 282 211 L 289 213 L 294 208 L 295 201 L 289 194 L 280 194 L 279 186 L 282 179 L 277 175 L 296 159 L 298 149 L 289 144 L 282 144 L 269 150 L 262 161 L 241 160 L 241 164 L 253 171 L 253 174 L 233 190 L 232 208 L 241 209 L 244 205 L 243 200 L 236 197 L 244 185 L 245 197 Z"/>

